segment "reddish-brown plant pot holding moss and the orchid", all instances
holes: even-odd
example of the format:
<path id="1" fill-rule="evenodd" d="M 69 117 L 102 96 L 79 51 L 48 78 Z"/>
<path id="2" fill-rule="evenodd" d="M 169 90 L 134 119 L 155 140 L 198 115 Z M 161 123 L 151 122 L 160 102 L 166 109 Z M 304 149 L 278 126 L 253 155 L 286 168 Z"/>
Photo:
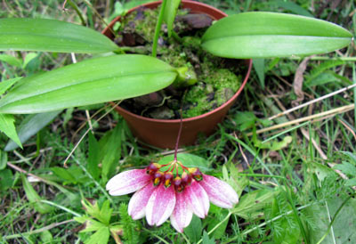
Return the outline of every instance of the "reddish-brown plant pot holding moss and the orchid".
<path id="1" fill-rule="evenodd" d="M 153 9 L 157 8 L 159 4 L 161 4 L 160 1 L 143 4 L 141 6 Z M 129 12 L 134 12 L 138 7 L 131 9 Z M 214 20 L 220 20 L 227 16 L 224 12 L 221 12 L 212 6 L 195 1 L 182 0 L 182 7 L 190 9 L 193 13 L 206 13 Z M 110 28 L 112 28 L 115 22 L 119 20 L 119 17 L 112 20 L 109 26 L 102 31 L 102 34 L 112 39 L 114 35 L 111 33 Z M 225 102 L 219 108 L 198 117 L 182 119 L 182 135 L 179 146 L 193 144 L 196 142 L 199 133 L 206 135 L 214 133 L 215 126 L 223 120 L 226 113 L 231 108 L 233 103 L 236 102 L 239 94 L 247 83 L 252 67 L 252 60 L 246 60 L 245 63 L 248 66 L 247 74 L 242 82 L 242 85 L 239 87 L 239 91 L 234 94 L 228 102 Z M 139 140 L 158 148 L 174 149 L 180 127 L 180 119 L 145 118 L 128 110 L 124 110 L 121 107 L 116 107 L 116 110 L 122 117 L 125 118 L 128 126 Z"/>

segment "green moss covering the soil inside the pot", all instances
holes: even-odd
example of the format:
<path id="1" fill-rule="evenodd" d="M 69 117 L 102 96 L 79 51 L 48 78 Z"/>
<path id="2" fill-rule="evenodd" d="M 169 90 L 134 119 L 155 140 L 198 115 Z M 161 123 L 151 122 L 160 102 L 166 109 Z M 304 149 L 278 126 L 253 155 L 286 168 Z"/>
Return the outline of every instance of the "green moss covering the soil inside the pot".
<path id="1" fill-rule="evenodd" d="M 179 14 L 182 14 L 182 12 Z M 123 21 L 121 31 L 134 31 L 135 34 L 145 40 L 146 43 L 144 45 L 150 50 L 157 16 L 158 10 L 150 9 L 145 9 L 143 16 L 142 10 L 129 14 Z M 184 23 L 176 22 L 174 24 L 176 25 L 176 31 L 182 37 Z M 132 27 L 134 28 L 131 29 Z M 165 26 L 163 26 L 162 31 L 166 32 Z M 198 75 L 198 82 L 196 85 L 190 86 L 187 92 L 179 89 L 174 90 L 173 93 L 172 89 L 164 90 L 164 96 L 171 96 L 174 100 L 173 102 L 166 102 L 164 106 L 173 112 L 167 113 L 166 108 L 152 108 L 149 113 L 150 117 L 159 117 L 157 116 L 159 110 L 165 110 L 165 114 L 171 114 L 172 118 L 179 118 L 176 105 L 180 97 L 183 97 L 183 118 L 195 117 L 223 105 L 239 89 L 241 78 L 236 76 L 230 69 L 223 67 L 223 59 L 206 53 L 200 48 L 198 36 L 201 32 L 203 31 L 198 30 L 194 36 L 183 37 L 183 43 L 179 43 L 173 38 L 168 38 L 166 35 L 162 35 L 161 37 L 163 38 L 158 41 L 160 44 L 158 45 L 158 58 L 175 68 L 185 66 L 189 67 L 189 69 L 195 69 Z M 174 104 L 174 106 L 171 104 Z M 142 110 L 147 111 L 148 109 L 142 108 Z"/>

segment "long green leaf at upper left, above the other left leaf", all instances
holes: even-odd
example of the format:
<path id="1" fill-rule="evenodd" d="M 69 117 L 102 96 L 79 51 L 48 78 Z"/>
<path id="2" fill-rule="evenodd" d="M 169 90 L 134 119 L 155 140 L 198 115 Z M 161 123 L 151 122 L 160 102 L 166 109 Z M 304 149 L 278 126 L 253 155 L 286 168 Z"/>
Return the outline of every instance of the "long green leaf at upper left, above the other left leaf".
<path id="1" fill-rule="evenodd" d="M 91 29 L 59 20 L 1 19 L 0 51 L 108 53 L 118 46 Z"/>

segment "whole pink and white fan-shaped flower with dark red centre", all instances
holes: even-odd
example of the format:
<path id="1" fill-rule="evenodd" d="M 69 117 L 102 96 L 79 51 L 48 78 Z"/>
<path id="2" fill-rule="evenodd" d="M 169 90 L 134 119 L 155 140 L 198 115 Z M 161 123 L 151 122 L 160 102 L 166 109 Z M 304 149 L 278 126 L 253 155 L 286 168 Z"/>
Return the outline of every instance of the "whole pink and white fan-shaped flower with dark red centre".
<path id="1" fill-rule="evenodd" d="M 164 167 L 168 169 L 161 171 Z M 190 224 L 193 214 L 205 218 L 210 201 L 224 208 L 239 202 L 228 183 L 202 174 L 197 167 L 184 167 L 178 160 L 120 173 L 109 180 L 106 189 L 113 196 L 136 191 L 128 204 L 134 220 L 146 216 L 148 224 L 159 226 L 170 217 L 178 232 Z"/>

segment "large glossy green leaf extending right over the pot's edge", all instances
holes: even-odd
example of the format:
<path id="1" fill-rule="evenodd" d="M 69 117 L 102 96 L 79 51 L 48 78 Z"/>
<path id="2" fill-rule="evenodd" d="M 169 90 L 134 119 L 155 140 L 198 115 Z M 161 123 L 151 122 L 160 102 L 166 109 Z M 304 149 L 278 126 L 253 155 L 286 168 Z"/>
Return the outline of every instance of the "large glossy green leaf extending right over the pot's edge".
<path id="1" fill-rule="evenodd" d="M 217 21 L 202 46 L 226 58 L 268 58 L 328 53 L 348 45 L 352 34 L 324 20 L 274 12 L 245 12 Z"/>

